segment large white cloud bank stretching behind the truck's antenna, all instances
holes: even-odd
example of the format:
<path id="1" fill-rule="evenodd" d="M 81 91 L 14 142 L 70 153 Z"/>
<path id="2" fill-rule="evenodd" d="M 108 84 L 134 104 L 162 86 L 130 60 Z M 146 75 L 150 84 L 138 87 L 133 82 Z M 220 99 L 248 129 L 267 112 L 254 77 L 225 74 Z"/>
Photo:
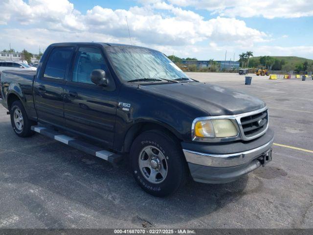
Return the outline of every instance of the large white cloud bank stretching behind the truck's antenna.
<path id="1" fill-rule="evenodd" d="M 244 21 L 222 17 L 205 21 L 193 11 L 157 0 L 149 0 L 149 3 L 129 10 L 94 6 L 82 14 L 68 0 L 29 0 L 28 3 L 4 0 L 0 8 L 6 15 L 1 23 L 16 21 L 34 28 L 54 30 L 57 32 L 55 38 L 62 31 L 71 32 L 70 35 L 90 32 L 126 38 L 127 16 L 132 37 L 142 44 L 181 46 L 211 40 L 253 45 L 266 40 L 265 33 L 247 27 Z M 157 14 L 155 8 L 167 10 L 169 14 Z"/>

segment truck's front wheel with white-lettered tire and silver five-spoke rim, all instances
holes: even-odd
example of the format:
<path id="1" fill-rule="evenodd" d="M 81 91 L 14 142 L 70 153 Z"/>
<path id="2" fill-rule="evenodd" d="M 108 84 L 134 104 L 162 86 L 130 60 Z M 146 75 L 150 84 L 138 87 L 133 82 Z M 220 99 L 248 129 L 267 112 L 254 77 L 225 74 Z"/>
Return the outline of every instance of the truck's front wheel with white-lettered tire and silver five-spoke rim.
<path id="1" fill-rule="evenodd" d="M 179 141 L 158 130 L 146 131 L 133 142 L 130 152 L 134 178 L 143 190 L 157 196 L 176 192 L 186 179 L 186 162 Z"/>

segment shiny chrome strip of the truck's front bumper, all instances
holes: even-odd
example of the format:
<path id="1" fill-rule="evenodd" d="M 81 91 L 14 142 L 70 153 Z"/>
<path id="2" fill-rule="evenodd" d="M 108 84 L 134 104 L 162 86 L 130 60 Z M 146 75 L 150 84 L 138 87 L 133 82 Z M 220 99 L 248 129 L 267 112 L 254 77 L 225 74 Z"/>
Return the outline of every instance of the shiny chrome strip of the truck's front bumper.
<path id="1" fill-rule="evenodd" d="M 245 152 L 233 153 L 233 154 L 209 154 L 209 153 L 199 153 L 183 149 L 186 161 L 192 164 L 212 166 L 212 167 L 230 167 L 243 165 L 251 162 L 253 159 L 261 156 L 263 153 L 270 149 L 273 139 L 268 143 Z"/>

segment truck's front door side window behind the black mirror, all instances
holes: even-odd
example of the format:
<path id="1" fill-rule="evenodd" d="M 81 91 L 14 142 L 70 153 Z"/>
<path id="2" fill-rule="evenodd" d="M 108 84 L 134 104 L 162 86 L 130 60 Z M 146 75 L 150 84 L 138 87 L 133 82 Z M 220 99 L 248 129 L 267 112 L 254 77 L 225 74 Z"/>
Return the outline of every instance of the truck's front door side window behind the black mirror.
<path id="1" fill-rule="evenodd" d="M 93 70 L 98 69 L 104 70 L 108 74 L 100 49 L 80 47 L 75 58 L 72 82 L 93 84 L 90 74 Z"/>

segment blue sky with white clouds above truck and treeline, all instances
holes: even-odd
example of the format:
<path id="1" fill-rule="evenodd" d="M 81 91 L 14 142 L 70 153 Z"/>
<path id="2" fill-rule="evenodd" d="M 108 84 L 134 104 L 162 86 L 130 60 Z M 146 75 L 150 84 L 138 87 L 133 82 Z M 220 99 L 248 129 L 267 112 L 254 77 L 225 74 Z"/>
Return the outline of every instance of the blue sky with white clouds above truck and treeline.
<path id="1" fill-rule="evenodd" d="M 313 59 L 313 0 L 0 0 L 0 50 L 132 43 L 200 60 Z M 126 18 L 127 17 L 127 18 Z"/>

